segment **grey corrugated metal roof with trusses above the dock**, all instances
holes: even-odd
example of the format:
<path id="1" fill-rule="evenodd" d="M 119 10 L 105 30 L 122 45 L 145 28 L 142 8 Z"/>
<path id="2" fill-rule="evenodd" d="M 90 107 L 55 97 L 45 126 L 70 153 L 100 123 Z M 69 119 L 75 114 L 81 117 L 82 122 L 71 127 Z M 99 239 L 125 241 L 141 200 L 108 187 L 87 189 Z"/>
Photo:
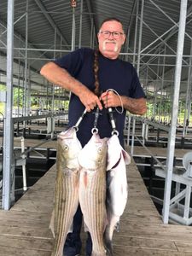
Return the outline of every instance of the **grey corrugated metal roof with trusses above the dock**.
<path id="1" fill-rule="evenodd" d="M 144 3 L 143 17 L 142 3 Z M 7 23 L 7 4 L 7 0 L 0 2 L 0 33 L 4 31 Z M 37 71 L 38 76 L 39 69 L 46 61 L 64 55 L 72 49 L 73 14 L 75 49 L 96 47 L 95 36 L 100 23 L 103 19 L 114 16 L 122 20 L 127 34 L 122 57 L 133 62 L 136 67 L 142 24 L 139 76 L 143 86 L 148 90 L 162 90 L 161 76 L 164 73 L 163 88 L 172 94 L 180 4 L 180 0 L 78 0 L 77 7 L 73 9 L 71 1 L 66 0 L 15 0 L 15 61 L 25 61 L 27 48 L 28 64 L 33 68 L 33 72 Z M 189 0 L 183 47 L 181 90 L 183 97 L 186 94 L 189 78 L 189 55 L 191 55 L 192 42 L 191 12 L 192 0 Z M 6 53 L 5 36 L 6 33 L 3 33 L 0 38 L 0 54 Z M 128 55 L 125 56 L 127 53 Z M 148 79 L 146 79 L 146 73 L 148 73 Z M 41 84 L 41 81 L 43 80 L 38 79 L 37 83 Z"/>

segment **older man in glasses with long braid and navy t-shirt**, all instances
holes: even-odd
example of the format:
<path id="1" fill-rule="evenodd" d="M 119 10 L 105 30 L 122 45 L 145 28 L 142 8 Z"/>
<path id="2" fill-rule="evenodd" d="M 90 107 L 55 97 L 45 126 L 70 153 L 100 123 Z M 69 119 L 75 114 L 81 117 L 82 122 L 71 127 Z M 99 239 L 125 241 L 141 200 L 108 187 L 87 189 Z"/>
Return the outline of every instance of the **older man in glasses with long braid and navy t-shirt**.
<path id="1" fill-rule="evenodd" d="M 62 88 L 72 92 L 69 103 L 69 124 L 73 126 L 84 112 L 88 113 L 79 125 L 78 137 L 82 146 L 90 140 L 94 125 L 92 110 L 96 107 L 102 113 L 97 128 L 100 137 L 110 137 L 112 126 L 108 119 L 108 108 L 123 107 L 124 111 L 113 111 L 119 141 L 124 143 L 125 112 L 146 113 L 146 100 L 137 72 L 131 63 L 119 60 L 119 52 L 125 43 L 122 23 L 116 18 L 102 22 L 97 34 L 99 49 L 77 49 L 60 59 L 44 65 L 41 74 Z M 64 255 L 79 255 L 81 249 L 80 229 L 82 213 L 80 208 L 73 219 L 73 233 L 67 236 Z M 88 236 L 86 255 L 91 255 L 91 239 Z"/>

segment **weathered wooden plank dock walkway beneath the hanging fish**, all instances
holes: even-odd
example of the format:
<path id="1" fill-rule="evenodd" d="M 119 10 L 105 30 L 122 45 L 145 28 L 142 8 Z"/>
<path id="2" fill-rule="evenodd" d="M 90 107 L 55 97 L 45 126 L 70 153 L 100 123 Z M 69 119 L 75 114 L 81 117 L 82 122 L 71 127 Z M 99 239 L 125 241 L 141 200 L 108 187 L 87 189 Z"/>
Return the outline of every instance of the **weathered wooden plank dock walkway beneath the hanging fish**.
<path id="1" fill-rule="evenodd" d="M 162 224 L 134 160 L 128 166 L 128 184 L 120 232 L 113 236 L 114 256 L 191 256 L 192 227 Z M 50 256 L 54 187 L 52 166 L 9 212 L 0 211 L 0 256 Z"/>

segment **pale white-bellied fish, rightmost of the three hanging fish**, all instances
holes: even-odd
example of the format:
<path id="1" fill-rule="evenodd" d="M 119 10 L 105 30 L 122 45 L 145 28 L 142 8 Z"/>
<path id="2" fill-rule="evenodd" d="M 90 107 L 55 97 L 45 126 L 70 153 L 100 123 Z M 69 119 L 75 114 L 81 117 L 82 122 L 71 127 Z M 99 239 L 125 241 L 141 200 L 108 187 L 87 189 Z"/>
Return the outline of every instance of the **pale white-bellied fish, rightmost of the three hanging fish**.
<path id="1" fill-rule="evenodd" d="M 113 255 L 113 230 L 119 227 L 119 218 L 123 214 L 127 202 L 128 186 L 126 166 L 130 164 L 129 154 L 121 147 L 117 135 L 108 139 L 108 166 L 107 166 L 107 212 L 108 225 L 104 240 L 108 255 Z"/>

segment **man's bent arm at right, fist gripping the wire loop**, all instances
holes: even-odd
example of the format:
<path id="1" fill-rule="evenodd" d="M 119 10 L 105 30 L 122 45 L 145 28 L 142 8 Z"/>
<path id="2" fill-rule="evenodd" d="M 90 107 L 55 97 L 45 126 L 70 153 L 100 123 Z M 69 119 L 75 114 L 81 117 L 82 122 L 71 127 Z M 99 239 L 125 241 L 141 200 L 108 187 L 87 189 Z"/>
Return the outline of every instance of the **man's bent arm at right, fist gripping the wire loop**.
<path id="1" fill-rule="evenodd" d="M 121 99 L 121 100 L 120 100 Z M 133 99 L 127 96 L 119 96 L 113 91 L 108 91 L 102 94 L 102 102 L 104 103 L 105 108 L 109 107 L 123 107 L 128 110 L 130 113 L 143 115 L 147 112 L 147 104 L 145 98 Z"/>

